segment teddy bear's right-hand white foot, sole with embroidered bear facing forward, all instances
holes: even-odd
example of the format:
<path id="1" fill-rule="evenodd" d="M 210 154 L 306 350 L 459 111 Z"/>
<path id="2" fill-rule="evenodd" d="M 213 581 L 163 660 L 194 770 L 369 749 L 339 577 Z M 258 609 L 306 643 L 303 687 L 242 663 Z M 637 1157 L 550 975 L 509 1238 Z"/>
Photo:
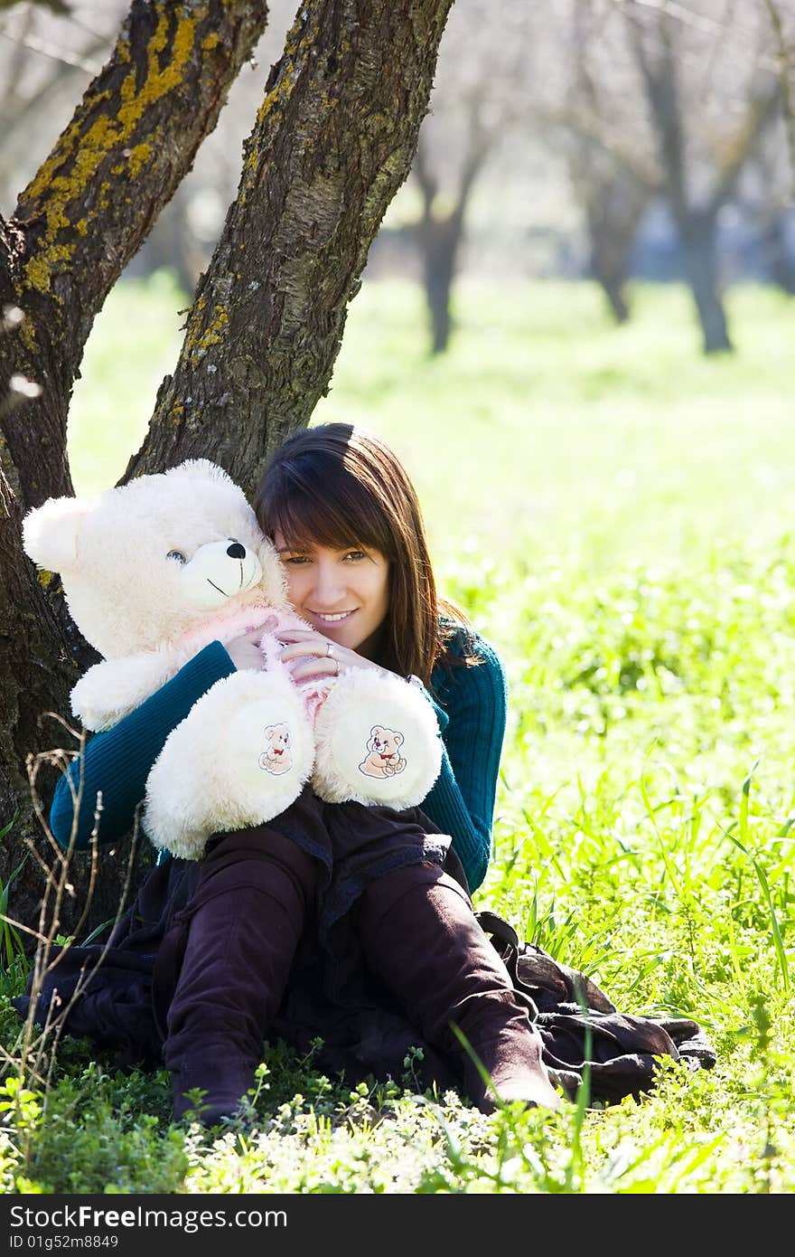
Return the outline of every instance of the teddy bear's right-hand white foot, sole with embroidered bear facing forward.
<path id="1" fill-rule="evenodd" d="M 343 672 L 315 719 L 313 786 L 329 803 L 414 807 L 442 766 L 436 713 L 416 686 Z"/>

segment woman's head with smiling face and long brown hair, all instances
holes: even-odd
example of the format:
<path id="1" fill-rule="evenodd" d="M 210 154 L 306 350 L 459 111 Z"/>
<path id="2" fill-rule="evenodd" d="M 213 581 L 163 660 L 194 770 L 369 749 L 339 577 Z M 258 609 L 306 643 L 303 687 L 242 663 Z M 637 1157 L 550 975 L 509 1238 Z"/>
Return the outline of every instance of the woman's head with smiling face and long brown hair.
<path id="1" fill-rule="evenodd" d="M 359 666 L 377 661 L 427 686 L 437 662 L 461 662 L 447 642 L 463 616 L 437 596 L 414 486 L 374 434 L 349 424 L 295 432 L 270 460 L 254 509 L 281 552 L 296 611 Z"/>

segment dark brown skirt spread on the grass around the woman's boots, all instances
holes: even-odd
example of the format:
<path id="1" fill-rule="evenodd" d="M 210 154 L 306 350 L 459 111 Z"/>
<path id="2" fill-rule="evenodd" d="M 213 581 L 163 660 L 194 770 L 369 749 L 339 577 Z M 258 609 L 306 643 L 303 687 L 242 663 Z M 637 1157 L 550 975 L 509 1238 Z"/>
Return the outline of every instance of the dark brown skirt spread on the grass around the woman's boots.
<path id="1" fill-rule="evenodd" d="M 269 1037 L 301 1055 L 313 1052 L 319 1071 L 344 1075 L 352 1084 L 370 1077 L 399 1081 L 409 1050 L 419 1047 L 421 1053 L 412 1053 L 413 1079 L 442 1090 L 457 1086 L 456 1062 L 425 1042 L 374 982 L 353 928 L 362 891 L 407 864 L 437 864 L 466 889 L 450 837 L 418 808 L 398 813 L 358 803 L 323 804 L 309 789 L 279 817 L 278 828 L 316 861 L 319 877 Z M 191 916 L 221 867 L 256 856 L 257 833 L 255 827 L 217 835 L 201 861 L 171 857 L 153 869 L 108 944 L 53 949 L 57 963 L 44 982 L 36 1021 L 44 1024 L 48 1012 L 70 1006 L 68 1033 L 114 1050 L 119 1065 L 162 1065 L 162 1011 L 176 989 Z M 583 974 L 519 944 L 501 918 L 480 914 L 480 920 L 540 1031 L 545 1063 L 569 1094 L 585 1067 L 592 1099 L 614 1101 L 648 1090 L 661 1056 L 692 1067 L 715 1063 L 696 1022 L 619 1013 Z M 29 997 L 30 983 L 28 996 L 14 1001 L 23 1016 Z"/>

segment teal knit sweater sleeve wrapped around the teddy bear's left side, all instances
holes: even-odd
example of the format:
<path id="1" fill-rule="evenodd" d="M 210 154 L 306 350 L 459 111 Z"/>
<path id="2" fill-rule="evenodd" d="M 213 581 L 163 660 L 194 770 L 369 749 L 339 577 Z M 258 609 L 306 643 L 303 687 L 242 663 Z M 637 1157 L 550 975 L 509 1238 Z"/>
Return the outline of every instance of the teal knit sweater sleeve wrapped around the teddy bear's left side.
<path id="1" fill-rule="evenodd" d="M 133 823 L 149 769 L 166 738 L 202 694 L 234 671 L 235 665 L 221 642 L 210 642 L 113 729 L 94 734 L 55 787 L 50 830 L 58 845 L 67 848 L 73 830 L 75 851 L 84 851 L 90 845 L 99 793 L 99 846 L 109 846 L 123 837 Z"/>

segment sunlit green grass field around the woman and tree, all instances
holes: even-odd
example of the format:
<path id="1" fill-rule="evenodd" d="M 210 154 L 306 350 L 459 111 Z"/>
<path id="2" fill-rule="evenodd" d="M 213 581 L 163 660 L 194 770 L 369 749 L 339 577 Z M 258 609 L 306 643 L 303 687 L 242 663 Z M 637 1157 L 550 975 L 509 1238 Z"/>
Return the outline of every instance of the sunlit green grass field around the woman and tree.
<path id="1" fill-rule="evenodd" d="M 70 420 L 78 491 L 113 483 L 141 439 L 180 304 L 156 277 L 98 322 Z M 6 1190 L 795 1189 L 795 304 L 747 288 L 728 307 L 738 352 L 706 360 L 676 288 L 638 290 L 615 329 L 584 284 L 462 284 L 452 349 L 431 360 L 417 292 L 365 284 L 315 412 L 403 456 L 440 585 L 509 671 L 476 908 L 623 1011 L 701 1021 L 716 1068 L 668 1066 L 642 1102 L 484 1117 L 419 1102 L 411 1062 L 352 1092 L 278 1048 L 259 1131 L 212 1139 L 168 1125 L 165 1073 L 116 1076 L 67 1042 L 46 1101 L 0 1133 Z M 11 967 L 6 993 L 19 980 Z M 10 1011 L 0 1028 L 13 1047 Z"/>

